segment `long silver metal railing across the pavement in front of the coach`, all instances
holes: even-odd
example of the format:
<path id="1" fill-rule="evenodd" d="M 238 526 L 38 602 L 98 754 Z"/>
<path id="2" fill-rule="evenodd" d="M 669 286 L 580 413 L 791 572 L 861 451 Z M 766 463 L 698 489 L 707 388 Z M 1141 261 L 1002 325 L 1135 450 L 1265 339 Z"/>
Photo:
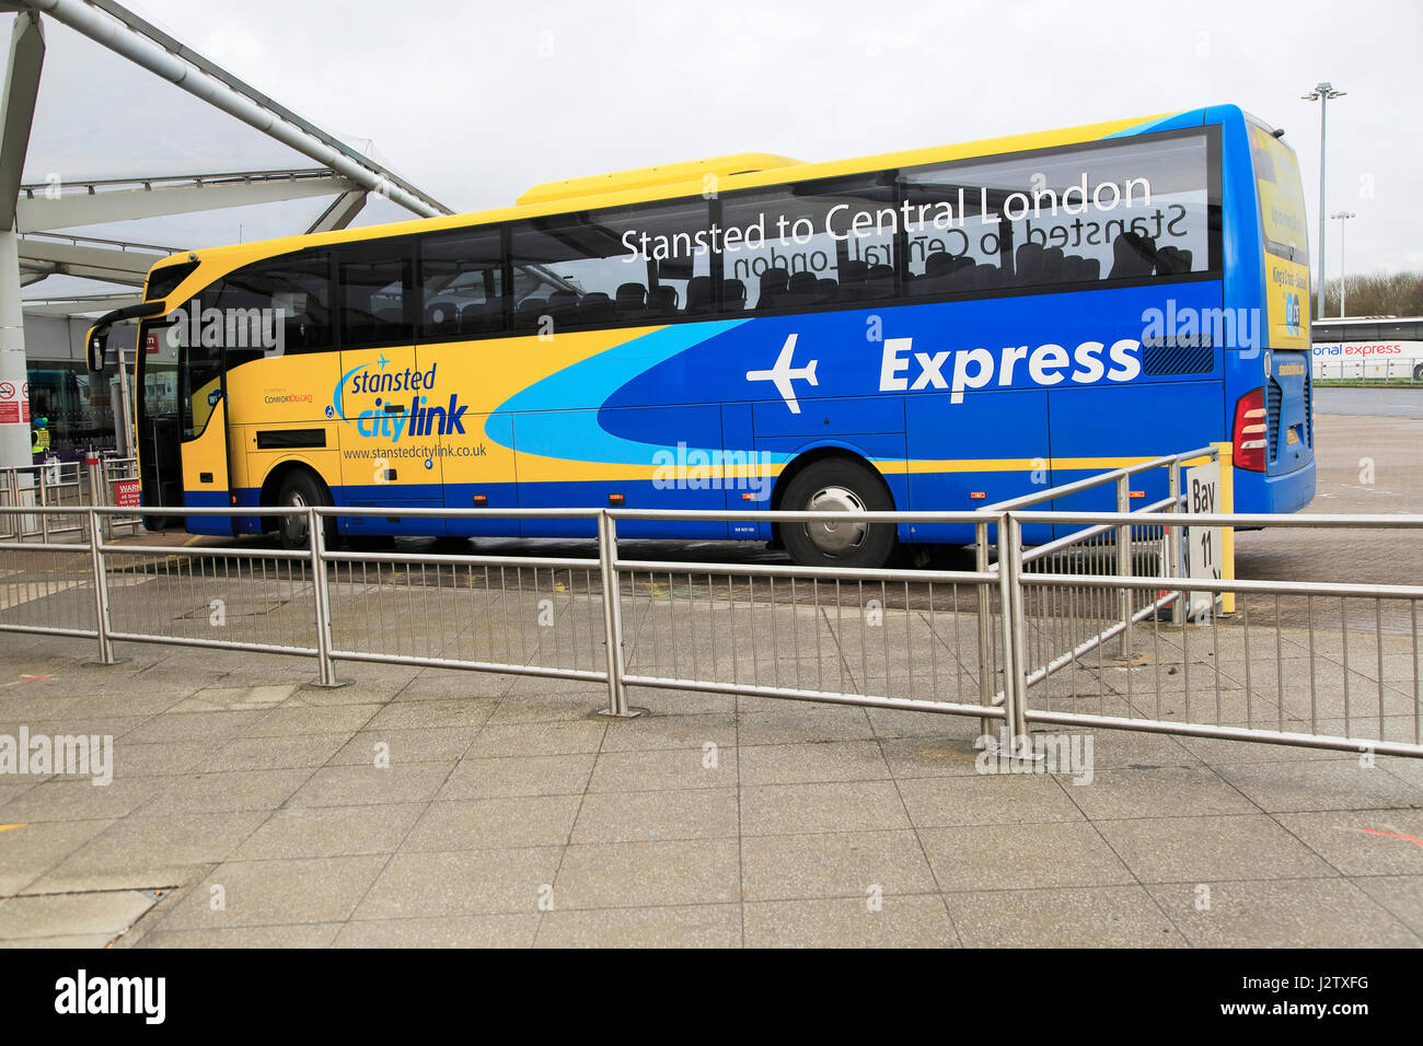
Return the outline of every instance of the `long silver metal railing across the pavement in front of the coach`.
<path id="1" fill-rule="evenodd" d="M 1201 457 L 1097 481 L 1150 468 L 1178 475 Z M 1183 576 L 1175 555 L 1183 527 L 1423 531 L 1423 517 L 1192 515 L 1167 511 L 1180 507 L 1170 501 L 1096 514 L 400 509 L 583 519 L 596 525 L 596 558 L 326 546 L 333 517 L 383 508 L 306 509 L 309 546 L 282 551 L 125 544 L 105 537 L 102 521 L 128 509 L 6 507 L 0 517 L 41 515 L 50 532 L 74 528 L 83 539 L 0 541 L 0 630 L 88 636 L 105 663 L 115 642 L 312 657 L 326 686 L 339 685 L 343 662 L 596 682 L 615 717 L 638 712 L 629 687 L 662 687 L 973 716 L 1012 749 L 1052 723 L 1423 756 L 1423 586 L 1200 581 Z M 620 521 L 731 518 L 958 524 L 978 535 L 978 559 L 972 571 L 909 571 L 620 552 Z M 1023 528 L 1042 525 L 1072 529 L 1026 548 Z M 1107 535 L 1116 544 L 1093 544 Z M 1222 615 L 1208 599 L 1194 618 L 1173 613 L 1198 592 L 1234 593 L 1239 609 Z"/>

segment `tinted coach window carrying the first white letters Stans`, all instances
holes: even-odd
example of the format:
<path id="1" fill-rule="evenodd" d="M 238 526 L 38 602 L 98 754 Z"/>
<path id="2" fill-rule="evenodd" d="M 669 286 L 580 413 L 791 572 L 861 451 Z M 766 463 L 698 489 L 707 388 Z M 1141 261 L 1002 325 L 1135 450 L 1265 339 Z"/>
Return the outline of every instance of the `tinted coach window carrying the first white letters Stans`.
<path id="1" fill-rule="evenodd" d="M 535 218 L 514 228 L 514 329 L 598 327 L 706 310 L 704 201 Z"/>

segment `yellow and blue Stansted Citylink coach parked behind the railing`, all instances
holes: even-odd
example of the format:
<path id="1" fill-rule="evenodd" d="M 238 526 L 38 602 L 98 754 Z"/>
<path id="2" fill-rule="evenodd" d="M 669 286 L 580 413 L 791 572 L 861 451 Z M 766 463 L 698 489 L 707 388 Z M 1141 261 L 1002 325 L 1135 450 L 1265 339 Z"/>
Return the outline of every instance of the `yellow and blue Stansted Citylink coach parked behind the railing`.
<path id="1" fill-rule="evenodd" d="M 961 511 L 1210 443 L 1232 444 L 1238 509 L 1292 511 L 1315 490 L 1305 225 L 1282 132 L 1231 105 L 744 154 L 175 255 L 91 357 L 141 320 L 144 504 L 199 534 L 300 545 L 306 522 L 184 507 L 386 509 L 332 538 L 592 532 L 417 508 Z M 619 532 L 847 566 L 972 538 L 734 515 Z"/>

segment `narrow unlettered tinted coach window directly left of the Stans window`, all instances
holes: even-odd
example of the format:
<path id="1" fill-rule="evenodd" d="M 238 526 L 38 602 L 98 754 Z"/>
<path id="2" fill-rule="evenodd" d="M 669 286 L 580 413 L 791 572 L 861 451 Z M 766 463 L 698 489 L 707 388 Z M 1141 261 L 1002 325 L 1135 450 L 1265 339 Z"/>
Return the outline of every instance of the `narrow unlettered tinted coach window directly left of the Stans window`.
<path id="1" fill-rule="evenodd" d="M 421 340 L 482 337 L 505 329 L 498 229 L 428 238 L 420 245 Z"/>

